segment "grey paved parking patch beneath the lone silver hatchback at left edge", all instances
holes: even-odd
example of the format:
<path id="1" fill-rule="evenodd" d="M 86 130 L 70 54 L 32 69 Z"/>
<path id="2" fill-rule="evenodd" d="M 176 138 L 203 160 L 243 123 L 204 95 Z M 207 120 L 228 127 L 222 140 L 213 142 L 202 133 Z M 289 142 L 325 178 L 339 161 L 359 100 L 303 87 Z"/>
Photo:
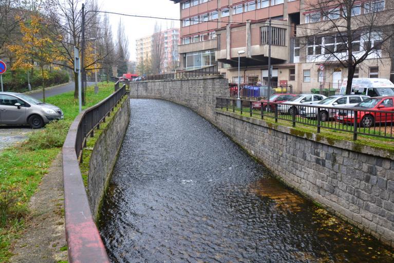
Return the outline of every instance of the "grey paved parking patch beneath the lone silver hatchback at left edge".
<path id="1" fill-rule="evenodd" d="M 0 152 L 17 143 L 22 143 L 27 139 L 28 133 L 32 129 L 28 125 L 24 126 L 4 126 L 0 125 Z"/>

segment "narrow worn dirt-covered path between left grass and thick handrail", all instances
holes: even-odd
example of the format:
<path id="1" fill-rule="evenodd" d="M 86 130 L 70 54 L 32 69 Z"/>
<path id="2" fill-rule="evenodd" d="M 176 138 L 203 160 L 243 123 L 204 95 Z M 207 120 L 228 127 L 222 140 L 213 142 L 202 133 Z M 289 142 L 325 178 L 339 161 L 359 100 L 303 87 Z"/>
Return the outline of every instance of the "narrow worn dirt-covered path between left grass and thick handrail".
<path id="1" fill-rule="evenodd" d="M 57 263 L 67 260 L 62 155 L 59 154 L 29 202 L 31 216 L 14 246 L 11 262 Z"/>

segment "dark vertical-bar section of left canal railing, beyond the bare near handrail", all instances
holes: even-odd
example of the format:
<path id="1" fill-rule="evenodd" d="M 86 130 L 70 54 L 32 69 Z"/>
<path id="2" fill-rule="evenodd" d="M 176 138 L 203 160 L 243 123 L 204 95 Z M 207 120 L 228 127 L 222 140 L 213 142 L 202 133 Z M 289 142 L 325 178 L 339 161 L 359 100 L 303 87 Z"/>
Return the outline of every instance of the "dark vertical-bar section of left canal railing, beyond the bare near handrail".
<path id="1" fill-rule="evenodd" d="M 94 129 L 100 127 L 100 123 L 105 121 L 105 117 L 109 116 L 114 107 L 126 94 L 126 85 L 124 84 L 118 91 L 111 94 L 95 106 L 85 110 L 77 128 L 77 139 L 75 151 L 78 159 L 82 162 L 82 149 L 86 147 L 87 136 L 93 137 Z"/>

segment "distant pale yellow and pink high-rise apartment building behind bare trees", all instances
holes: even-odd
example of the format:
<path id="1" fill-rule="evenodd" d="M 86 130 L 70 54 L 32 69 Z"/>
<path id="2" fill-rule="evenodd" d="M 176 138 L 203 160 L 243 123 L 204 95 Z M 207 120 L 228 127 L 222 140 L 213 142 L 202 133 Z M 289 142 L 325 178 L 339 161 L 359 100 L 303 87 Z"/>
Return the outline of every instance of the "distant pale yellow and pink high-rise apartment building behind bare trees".
<path id="1" fill-rule="evenodd" d="M 137 64 L 152 57 L 153 34 L 136 40 Z M 163 50 L 161 71 L 174 71 L 179 64 L 178 46 L 180 44 L 179 28 L 171 28 L 160 33 L 160 45 Z"/>

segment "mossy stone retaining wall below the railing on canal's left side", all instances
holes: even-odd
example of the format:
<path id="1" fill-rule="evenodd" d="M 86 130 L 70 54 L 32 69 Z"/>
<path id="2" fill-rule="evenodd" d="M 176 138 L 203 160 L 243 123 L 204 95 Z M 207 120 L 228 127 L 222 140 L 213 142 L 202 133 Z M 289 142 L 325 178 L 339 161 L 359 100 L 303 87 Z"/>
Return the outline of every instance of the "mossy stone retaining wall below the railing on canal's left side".
<path id="1" fill-rule="evenodd" d="M 130 119 L 129 99 L 121 103 L 120 109 L 98 137 L 90 156 L 87 197 L 96 221 Z"/>

